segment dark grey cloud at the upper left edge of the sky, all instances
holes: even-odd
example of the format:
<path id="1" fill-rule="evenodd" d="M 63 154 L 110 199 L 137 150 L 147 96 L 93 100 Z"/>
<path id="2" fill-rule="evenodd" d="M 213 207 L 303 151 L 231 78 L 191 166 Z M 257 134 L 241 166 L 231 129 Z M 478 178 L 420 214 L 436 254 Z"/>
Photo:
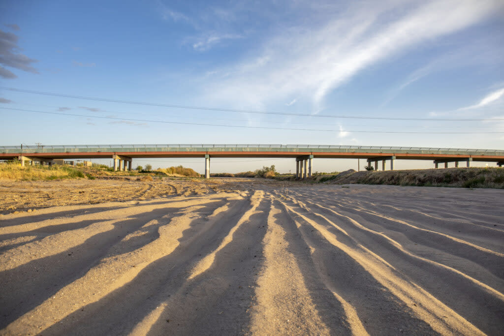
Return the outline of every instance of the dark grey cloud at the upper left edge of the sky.
<path id="1" fill-rule="evenodd" d="M 38 74 L 38 71 L 31 65 L 38 60 L 30 58 L 22 53 L 18 53 L 21 48 L 18 46 L 19 37 L 13 33 L 0 30 L 0 77 L 5 79 L 14 79 L 17 76 L 4 68 L 9 66 L 23 70 L 32 74 Z"/>

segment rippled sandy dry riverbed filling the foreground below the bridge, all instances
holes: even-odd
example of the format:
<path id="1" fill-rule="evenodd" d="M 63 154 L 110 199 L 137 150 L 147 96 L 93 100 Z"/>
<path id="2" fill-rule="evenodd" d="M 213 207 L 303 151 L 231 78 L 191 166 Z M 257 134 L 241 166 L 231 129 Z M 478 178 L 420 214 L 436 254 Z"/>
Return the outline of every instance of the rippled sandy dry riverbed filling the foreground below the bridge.
<path id="1" fill-rule="evenodd" d="M 504 330 L 504 190 L 98 182 L 0 215 L 1 334 Z"/>

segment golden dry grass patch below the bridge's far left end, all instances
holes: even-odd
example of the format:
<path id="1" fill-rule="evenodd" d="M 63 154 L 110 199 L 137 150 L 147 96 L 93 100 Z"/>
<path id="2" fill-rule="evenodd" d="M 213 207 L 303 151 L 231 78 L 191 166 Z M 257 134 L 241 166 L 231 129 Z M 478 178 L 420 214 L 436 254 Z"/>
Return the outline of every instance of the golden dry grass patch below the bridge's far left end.
<path id="1" fill-rule="evenodd" d="M 24 166 L 19 163 L 0 165 L 0 179 L 14 181 L 54 180 L 61 178 L 84 178 L 86 175 L 69 166 Z"/>

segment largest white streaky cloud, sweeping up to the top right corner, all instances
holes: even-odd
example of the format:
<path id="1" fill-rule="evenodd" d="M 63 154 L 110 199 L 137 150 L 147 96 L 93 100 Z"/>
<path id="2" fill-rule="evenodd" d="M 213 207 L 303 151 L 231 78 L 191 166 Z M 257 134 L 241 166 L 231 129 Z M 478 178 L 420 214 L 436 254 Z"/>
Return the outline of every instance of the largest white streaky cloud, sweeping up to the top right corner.
<path id="1" fill-rule="evenodd" d="M 279 29 L 247 59 L 218 69 L 227 76 L 205 83 L 209 99 L 247 106 L 298 96 L 320 109 L 329 92 L 371 64 L 465 29 L 502 7 L 491 0 L 351 6 L 324 15 L 321 24 L 310 18 L 305 27 Z"/>

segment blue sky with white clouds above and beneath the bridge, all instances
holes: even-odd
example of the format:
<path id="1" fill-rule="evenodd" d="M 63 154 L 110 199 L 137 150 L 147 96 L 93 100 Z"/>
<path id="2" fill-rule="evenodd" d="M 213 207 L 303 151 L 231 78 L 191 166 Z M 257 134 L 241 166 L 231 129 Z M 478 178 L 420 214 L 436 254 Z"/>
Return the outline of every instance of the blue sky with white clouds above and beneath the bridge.
<path id="1" fill-rule="evenodd" d="M 502 150 L 502 55 L 501 0 L 0 0 L 0 146 Z M 212 171 L 295 170 L 292 159 L 219 160 Z"/>

